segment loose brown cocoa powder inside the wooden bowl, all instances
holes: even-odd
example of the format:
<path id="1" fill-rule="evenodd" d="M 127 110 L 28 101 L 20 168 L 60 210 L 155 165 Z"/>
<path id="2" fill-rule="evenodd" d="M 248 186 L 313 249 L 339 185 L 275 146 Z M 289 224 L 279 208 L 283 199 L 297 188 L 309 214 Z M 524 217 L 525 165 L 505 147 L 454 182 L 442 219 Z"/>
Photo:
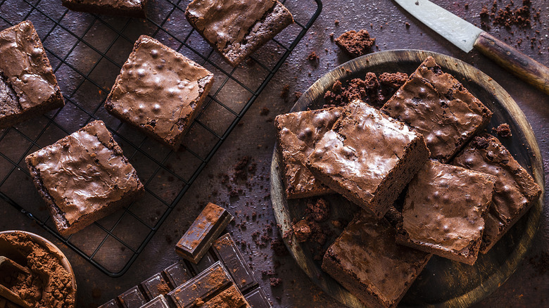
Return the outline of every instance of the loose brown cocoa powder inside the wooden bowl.
<path id="1" fill-rule="evenodd" d="M 22 257 L 27 264 L 21 265 L 30 269 L 30 275 L 20 273 L 11 275 L 11 277 L 2 275 L 3 279 L 10 280 L 7 284 L 2 281 L 2 284 L 26 300 L 31 307 L 75 307 L 72 277 L 63 268 L 56 255 L 34 243 L 32 238 L 25 233 L 2 234 L 0 235 L 1 242 L 8 243 L 20 254 L 20 256 L 10 255 L 7 257 L 14 260 Z M 46 283 L 44 284 L 44 282 Z"/>

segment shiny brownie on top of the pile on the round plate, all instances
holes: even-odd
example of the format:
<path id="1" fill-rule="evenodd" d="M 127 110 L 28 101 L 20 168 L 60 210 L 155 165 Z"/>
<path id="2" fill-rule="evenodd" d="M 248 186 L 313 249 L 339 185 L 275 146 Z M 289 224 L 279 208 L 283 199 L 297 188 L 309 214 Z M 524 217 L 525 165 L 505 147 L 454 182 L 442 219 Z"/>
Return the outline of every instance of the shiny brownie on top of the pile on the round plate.
<path id="1" fill-rule="evenodd" d="M 355 100 L 306 165 L 329 188 L 381 218 L 428 158 L 421 134 Z"/>

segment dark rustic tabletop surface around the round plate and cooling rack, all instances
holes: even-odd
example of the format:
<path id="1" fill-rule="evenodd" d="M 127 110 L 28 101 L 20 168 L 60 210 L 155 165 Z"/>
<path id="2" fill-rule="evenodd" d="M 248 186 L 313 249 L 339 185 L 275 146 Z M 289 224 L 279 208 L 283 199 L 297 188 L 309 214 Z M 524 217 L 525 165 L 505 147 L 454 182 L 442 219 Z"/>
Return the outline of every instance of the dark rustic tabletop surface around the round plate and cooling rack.
<path id="1" fill-rule="evenodd" d="M 491 0 L 435 2 L 476 25 L 481 24 L 481 8 L 484 5 L 488 9 L 492 6 Z M 509 2 L 498 0 L 498 8 L 503 8 Z M 521 5 L 520 2 L 515 1 L 515 6 Z M 500 39 L 507 39 L 507 42 L 528 56 L 549 65 L 549 3 L 545 0 L 531 2 L 533 13 L 541 10 L 540 18 L 532 20 L 531 28 L 512 26 L 506 29 L 488 23 L 489 32 Z M 0 11 L 15 10 L 17 6 L 17 1 L 3 1 Z M 367 29 L 372 37 L 376 38 L 377 48 L 374 51 L 436 51 L 465 60 L 493 77 L 515 98 L 530 121 L 544 155 L 545 177 L 548 177 L 549 96 L 510 75 L 477 51 L 460 51 L 411 18 L 390 0 L 324 0 L 322 14 L 310 32 L 248 110 L 241 125 L 234 129 L 127 274 L 120 278 L 109 278 L 75 255 L 72 250 L 60 245 L 75 269 L 78 307 L 96 307 L 175 262 L 178 259 L 174 251 L 175 242 L 187 230 L 206 202 L 224 205 L 235 214 L 236 224 L 229 225 L 228 230 L 236 240 L 246 243 L 244 255 L 249 257 L 255 276 L 271 298 L 274 307 L 341 307 L 341 304 L 313 285 L 289 255 L 275 254 L 272 250 L 270 240 L 277 238 L 278 233 L 269 200 L 269 169 L 275 141 L 273 118 L 291 108 L 296 101 L 294 92 L 305 91 L 316 79 L 349 60 L 330 40 L 329 34 L 334 32 L 339 36 L 347 30 L 362 28 Z M 535 40 L 531 41 L 533 38 Z M 320 56 L 316 64 L 307 59 L 313 51 Z M 281 92 L 286 85 L 289 86 L 289 96 L 284 98 L 281 97 Z M 225 174 L 233 177 L 234 165 L 244 157 L 251 158 L 252 162 L 257 164 L 256 171 L 248 172 L 246 180 L 229 179 L 232 189 L 243 189 L 243 193 L 231 198 L 227 181 L 224 180 Z M 547 188 L 549 185 L 545 180 L 545 189 Z M 545 205 L 547 204 L 548 198 L 545 196 Z M 0 208 L 0 229 L 32 231 L 53 240 L 52 236 L 23 217 L 13 207 L 2 202 Z M 543 307 L 548 304 L 548 213 L 545 207 L 534 245 L 515 274 L 475 307 Z M 53 240 L 53 243 L 58 242 Z M 117 256 L 114 253 L 112 257 L 115 259 Z M 271 288 L 270 278 L 281 278 L 282 283 Z"/>

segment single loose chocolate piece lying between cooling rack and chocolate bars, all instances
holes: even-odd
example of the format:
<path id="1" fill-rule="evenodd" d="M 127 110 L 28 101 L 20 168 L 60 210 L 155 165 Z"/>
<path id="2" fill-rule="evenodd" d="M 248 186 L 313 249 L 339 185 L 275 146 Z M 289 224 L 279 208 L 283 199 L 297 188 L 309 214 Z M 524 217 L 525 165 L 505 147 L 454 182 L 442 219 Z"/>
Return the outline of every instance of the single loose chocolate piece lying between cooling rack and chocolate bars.
<path id="1" fill-rule="evenodd" d="M 175 252 L 197 264 L 232 219 L 232 215 L 227 210 L 208 203 L 175 245 Z"/>

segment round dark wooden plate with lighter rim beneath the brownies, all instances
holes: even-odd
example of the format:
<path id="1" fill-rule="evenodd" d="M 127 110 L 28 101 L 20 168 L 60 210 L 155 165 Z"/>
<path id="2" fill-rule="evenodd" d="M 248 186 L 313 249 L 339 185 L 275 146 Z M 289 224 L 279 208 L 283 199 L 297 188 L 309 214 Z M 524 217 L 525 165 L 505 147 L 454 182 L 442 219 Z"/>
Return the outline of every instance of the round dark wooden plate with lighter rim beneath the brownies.
<path id="1" fill-rule="evenodd" d="M 353 78 L 364 78 L 367 72 L 375 72 L 377 75 L 382 72 L 398 71 L 410 74 L 427 56 L 433 56 L 444 72 L 460 80 L 474 96 L 493 111 L 488 131 L 501 123 L 510 125 L 512 138 L 503 139 L 503 144 L 517 161 L 529 170 L 543 189 L 543 163 L 538 143 L 517 103 L 488 75 L 450 56 L 429 51 L 396 50 L 356 58 L 318 79 L 291 108 L 291 112 L 322 108 L 324 93 L 332 88 L 336 80 L 345 82 Z M 282 234 L 291 230 L 291 222 L 294 219 L 303 217 L 305 207 L 303 200 L 286 200 L 282 181 L 283 169 L 279 151 L 275 147 L 271 165 L 271 200 L 274 216 Z M 496 290 L 515 271 L 531 245 L 538 229 L 543 193 L 531 210 L 486 255 L 479 255 L 474 266 L 432 257 L 400 302 L 400 307 L 467 307 Z M 332 215 L 347 222 L 358 209 L 339 195 L 330 195 L 327 198 L 332 205 Z M 348 307 L 365 307 L 354 295 L 322 271 L 322 259 L 318 260 L 317 257 L 315 260 L 309 243 L 298 243 L 294 236 L 285 238 L 284 242 L 303 271 L 326 293 Z"/>

